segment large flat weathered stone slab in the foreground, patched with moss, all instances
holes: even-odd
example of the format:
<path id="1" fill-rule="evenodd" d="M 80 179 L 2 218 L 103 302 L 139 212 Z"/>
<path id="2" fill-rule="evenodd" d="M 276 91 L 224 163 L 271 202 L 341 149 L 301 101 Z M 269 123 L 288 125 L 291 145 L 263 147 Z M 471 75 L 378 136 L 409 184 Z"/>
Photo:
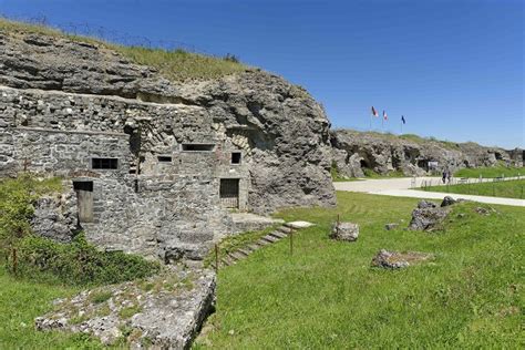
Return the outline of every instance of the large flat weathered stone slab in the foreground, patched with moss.
<path id="1" fill-rule="evenodd" d="M 215 305 L 215 275 L 172 267 L 162 276 L 83 291 L 56 300 L 38 317 L 38 330 L 89 333 L 112 344 L 124 338 L 133 349 L 188 349 Z"/>

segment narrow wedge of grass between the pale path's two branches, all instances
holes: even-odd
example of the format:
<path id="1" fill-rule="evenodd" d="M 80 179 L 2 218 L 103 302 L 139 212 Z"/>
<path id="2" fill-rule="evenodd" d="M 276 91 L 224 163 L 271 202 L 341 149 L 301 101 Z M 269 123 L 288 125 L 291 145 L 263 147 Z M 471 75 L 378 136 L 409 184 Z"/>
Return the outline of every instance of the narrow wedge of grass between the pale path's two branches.
<path id="1" fill-rule="evenodd" d="M 495 196 L 505 198 L 524 198 L 525 179 L 505 181 L 483 184 L 461 184 L 452 186 L 425 187 L 425 191 L 446 192 L 477 196 Z"/>

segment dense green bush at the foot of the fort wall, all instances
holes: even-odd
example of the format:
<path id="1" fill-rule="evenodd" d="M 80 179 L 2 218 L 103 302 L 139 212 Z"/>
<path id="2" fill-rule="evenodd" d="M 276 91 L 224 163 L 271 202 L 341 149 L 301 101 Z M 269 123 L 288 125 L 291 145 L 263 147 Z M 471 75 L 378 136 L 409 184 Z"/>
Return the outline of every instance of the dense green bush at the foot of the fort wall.
<path id="1" fill-rule="evenodd" d="M 74 285 L 105 285 L 146 277 L 159 270 L 159 264 L 122 251 L 100 251 L 83 235 L 71 244 L 59 244 L 33 235 L 19 243 L 19 271 Z"/>

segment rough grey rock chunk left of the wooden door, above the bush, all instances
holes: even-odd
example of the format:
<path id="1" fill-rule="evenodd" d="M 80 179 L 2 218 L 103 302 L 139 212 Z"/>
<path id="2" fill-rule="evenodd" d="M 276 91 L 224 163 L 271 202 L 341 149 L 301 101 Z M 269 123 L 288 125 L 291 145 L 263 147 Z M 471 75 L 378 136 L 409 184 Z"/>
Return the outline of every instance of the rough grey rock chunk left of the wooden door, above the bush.
<path id="1" fill-rule="evenodd" d="M 76 195 L 73 191 L 39 198 L 34 203 L 31 227 L 34 234 L 69 243 L 80 230 Z"/>

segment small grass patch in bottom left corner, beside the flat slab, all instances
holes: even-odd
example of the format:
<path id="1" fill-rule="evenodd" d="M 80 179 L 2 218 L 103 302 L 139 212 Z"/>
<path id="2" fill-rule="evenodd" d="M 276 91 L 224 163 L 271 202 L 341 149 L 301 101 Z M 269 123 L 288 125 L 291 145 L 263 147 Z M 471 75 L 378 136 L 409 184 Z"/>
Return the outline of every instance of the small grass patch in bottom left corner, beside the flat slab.
<path id="1" fill-rule="evenodd" d="M 51 310 L 53 299 L 78 291 L 72 287 L 16 279 L 0 266 L 0 349 L 102 349 L 99 341 L 85 336 L 34 329 L 34 318 Z"/>

